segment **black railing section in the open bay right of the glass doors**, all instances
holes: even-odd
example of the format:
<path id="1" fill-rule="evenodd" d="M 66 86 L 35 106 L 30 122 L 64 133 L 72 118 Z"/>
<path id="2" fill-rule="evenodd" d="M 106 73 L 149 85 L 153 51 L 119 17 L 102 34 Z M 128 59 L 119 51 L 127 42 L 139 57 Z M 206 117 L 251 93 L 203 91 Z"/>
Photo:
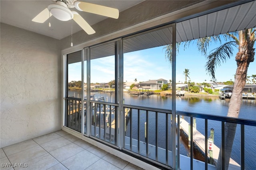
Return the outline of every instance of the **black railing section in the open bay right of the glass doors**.
<path id="1" fill-rule="evenodd" d="M 232 160 L 232 158 L 230 159 L 230 164 L 229 164 L 229 168 L 231 169 L 241 169 L 244 170 L 245 169 L 245 133 L 244 133 L 244 127 L 245 125 L 250 126 L 250 127 L 256 127 L 256 121 L 254 120 L 247 120 L 247 119 L 240 119 L 240 118 L 232 118 L 232 117 L 224 117 L 224 116 L 215 116 L 215 115 L 206 115 L 206 114 L 200 114 L 200 113 L 189 113 L 189 112 L 183 112 L 183 111 L 176 111 L 176 115 L 177 115 L 177 129 L 181 129 L 181 116 L 186 116 L 189 118 L 189 124 L 193 125 L 195 119 L 203 119 L 204 120 L 204 147 L 202 150 L 204 150 L 204 162 L 208 162 L 208 151 L 209 151 L 209 140 L 208 140 L 208 122 L 209 121 L 214 121 L 214 122 L 219 122 L 221 124 L 221 132 L 220 132 L 220 154 L 221 154 L 221 166 L 222 169 L 225 169 L 225 123 L 228 123 L 229 125 L 237 125 L 239 128 L 237 128 L 238 134 L 240 134 L 240 162 L 235 162 L 234 160 Z M 196 128 L 190 128 L 190 146 L 193 146 L 193 144 L 195 145 L 195 141 L 194 141 L 194 137 L 193 134 L 194 131 L 197 131 Z M 179 141 L 178 141 L 179 142 Z M 198 144 L 196 144 L 198 145 Z M 178 150 L 180 148 L 178 147 Z M 238 150 L 239 150 L 238 149 Z M 190 147 L 190 153 L 193 152 L 193 147 Z M 215 159 L 215 161 L 218 159 L 218 157 Z M 190 169 L 193 169 L 193 154 L 190 154 Z M 213 163 L 214 164 L 214 163 Z M 216 165 L 216 162 L 215 162 Z M 180 159 L 177 159 L 177 166 L 178 168 L 180 167 Z M 205 170 L 208 170 L 208 163 L 205 163 Z"/>

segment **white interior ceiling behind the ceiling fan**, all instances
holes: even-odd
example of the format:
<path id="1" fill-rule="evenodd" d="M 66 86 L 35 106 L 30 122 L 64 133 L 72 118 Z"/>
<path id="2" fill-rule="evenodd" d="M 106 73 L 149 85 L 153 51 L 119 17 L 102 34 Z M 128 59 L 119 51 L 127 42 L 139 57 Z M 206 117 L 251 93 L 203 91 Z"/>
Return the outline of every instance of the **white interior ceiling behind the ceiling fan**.
<path id="1" fill-rule="evenodd" d="M 119 12 L 139 4 L 142 1 L 143 0 L 84 0 L 84 2 L 117 8 Z M 60 21 L 54 17 L 51 17 L 51 27 L 48 26 L 48 21 L 44 23 L 36 23 L 31 21 L 37 14 L 44 10 L 48 4 L 53 3 L 53 0 L 0 0 L 1 22 L 56 39 L 62 39 L 68 35 L 71 35 L 71 20 Z M 94 25 L 95 23 L 106 19 L 104 16 L 80 12 L 78 10 L 76 11 L 90 25 Z M 77 23 L 72 22 L 72 25 L 73 33 L 82 30 Z"/>

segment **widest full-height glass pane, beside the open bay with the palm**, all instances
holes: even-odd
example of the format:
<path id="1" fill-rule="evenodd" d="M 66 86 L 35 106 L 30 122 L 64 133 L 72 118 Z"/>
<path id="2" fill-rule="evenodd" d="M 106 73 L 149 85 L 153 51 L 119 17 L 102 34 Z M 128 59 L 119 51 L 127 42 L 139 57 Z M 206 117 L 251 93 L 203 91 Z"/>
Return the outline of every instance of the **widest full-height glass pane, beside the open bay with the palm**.
<path id="1" fill-rule="evenodd" d="M 161 110 L 172 109 L 172 65 L 165 55 L 168 44 L 172 44 L 170 26 L 123 41 L 123 96 L 124 104 L 129 105 L 124 109 L 124 147 L 172 166 L 172 115 Z"/>

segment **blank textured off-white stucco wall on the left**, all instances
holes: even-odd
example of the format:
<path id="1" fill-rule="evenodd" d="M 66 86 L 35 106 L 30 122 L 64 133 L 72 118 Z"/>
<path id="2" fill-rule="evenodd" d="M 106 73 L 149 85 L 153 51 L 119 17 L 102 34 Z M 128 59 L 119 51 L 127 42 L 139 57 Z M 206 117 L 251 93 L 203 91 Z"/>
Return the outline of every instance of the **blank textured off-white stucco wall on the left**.
<path id="1" fill-rule="evenodd" d="M 1 23 L 0 147 L 61 129 L 59 44 Z"/>

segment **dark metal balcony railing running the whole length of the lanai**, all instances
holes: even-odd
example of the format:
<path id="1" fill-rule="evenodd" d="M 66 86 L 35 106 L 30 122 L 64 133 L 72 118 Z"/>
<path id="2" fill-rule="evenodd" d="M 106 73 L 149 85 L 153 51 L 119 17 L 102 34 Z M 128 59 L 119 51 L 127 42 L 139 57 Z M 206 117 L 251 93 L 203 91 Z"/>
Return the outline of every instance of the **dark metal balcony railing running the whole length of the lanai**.
<path id="1" fill-rule="evenodd" d="M 66 106 L 67 127 L 81 132 L 82 100 L 66 98 Z M 238 127 L 236 131 L 239 135 L 240 147 L 236 148 L 236 152 L 240 154 L 240 158 L 236 162 L 230 159 L 229 167 L 245 169 L 245 127 L 256 127 L 254 120 L 176 111 L 174 121 L 172 120 L 172 111 L 169 109 L 123 105 L 122 110 L 124 114 L 118 115 L 118 104 L 91 100 L 90 112 L 87 113 L 90 119 L 90 124 L 87 123 L 90 127 L 88 135 L 167 168 L 180 169 L 185 161 L 189 162 L 189 165 L 186 166 L 187 169 L 197 169 L 200 164 L 201 168 L 208 170 L 216 166 L 216 161 L 218 161 L 218 155 L 217 158 L 216 155 L 215 158 L 211 158 L 208 140 L 209 131 L 214 122 L 214 124 L 218 124 L 219 130 L 219 135 L 216 135 L 218 147 L 217 144 L 214 145 L 217 148 L 215 152 L 221 154 L 220 161 L 222 169 L 224 169 L 225 123 L 233 123 L 232 125 Z M 86 112 L 84 113 L 85 118 Z M 123 116 L 123 131 L 118 131 L 118 116 Z M 195 122 L 200 122 L 198 127 L 195 127 Z M 122 147 L 119 146 L 118 132 L 123 140 Z M 176 139 L 172 138 L 172 133 L 176 133 Z M 186 150 L 188 154 L 180 154 L 181 149 L 184 148 L 182 147 L 184 142 L 181 141 L 184 134 L 188 140 L 186 144 L 190 146 Z M 200 160 L 194 157 L 194 153 L 198 151 L 202 153 Z M 172 152 L 175 152 L 175 158 L 173 158 Z M 176 159 L 176 165 L 173 165 L 173 159 Z"/>

